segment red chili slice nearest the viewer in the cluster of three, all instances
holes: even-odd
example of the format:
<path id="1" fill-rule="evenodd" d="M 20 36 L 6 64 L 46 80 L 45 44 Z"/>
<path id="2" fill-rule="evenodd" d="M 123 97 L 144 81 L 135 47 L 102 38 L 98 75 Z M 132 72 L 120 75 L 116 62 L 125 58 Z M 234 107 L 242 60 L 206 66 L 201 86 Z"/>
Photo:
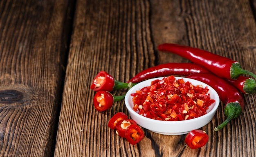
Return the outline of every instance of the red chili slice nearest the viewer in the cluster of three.
<path id="1" fill-rule="evenodd" d="M 130 144 L 135 145 L 143 139 L 144 131 L 138 125 L 132 124 L 126 130 L 125 137 Z"/>

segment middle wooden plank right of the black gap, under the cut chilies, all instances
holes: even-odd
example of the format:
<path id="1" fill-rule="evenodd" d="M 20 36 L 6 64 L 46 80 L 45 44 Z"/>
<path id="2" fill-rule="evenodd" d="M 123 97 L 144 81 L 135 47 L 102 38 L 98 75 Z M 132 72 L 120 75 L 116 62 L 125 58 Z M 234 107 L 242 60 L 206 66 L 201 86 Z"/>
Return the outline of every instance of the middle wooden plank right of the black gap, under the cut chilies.
<path id="1" fill-rule="evenodd" d="M 107 127 L 117 111 L 127 113 L 124 102 L 115 103 L 108 111 L 96 111 L 90 83 L 100 70 L 119 81 L 128 81 L 135 73 L 154 65 L 149 5 L 148 1 L 137 0 L 76 2 L 56 156 L 139 155 L 139 147 L 130 146 Z M 145 142 L 150 139 L 145 138 L 141 144 Z"/>

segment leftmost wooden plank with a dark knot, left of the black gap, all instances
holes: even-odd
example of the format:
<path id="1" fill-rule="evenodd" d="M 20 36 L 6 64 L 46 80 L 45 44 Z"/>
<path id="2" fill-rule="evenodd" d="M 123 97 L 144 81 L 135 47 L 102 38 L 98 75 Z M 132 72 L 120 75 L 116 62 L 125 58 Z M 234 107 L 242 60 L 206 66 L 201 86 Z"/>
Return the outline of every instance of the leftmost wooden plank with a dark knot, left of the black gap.
<path id="1" fill-rule="evenodd" d="M 0 156 L 54 153 L 67 9 L 65 0 L 0 1 Z"/>

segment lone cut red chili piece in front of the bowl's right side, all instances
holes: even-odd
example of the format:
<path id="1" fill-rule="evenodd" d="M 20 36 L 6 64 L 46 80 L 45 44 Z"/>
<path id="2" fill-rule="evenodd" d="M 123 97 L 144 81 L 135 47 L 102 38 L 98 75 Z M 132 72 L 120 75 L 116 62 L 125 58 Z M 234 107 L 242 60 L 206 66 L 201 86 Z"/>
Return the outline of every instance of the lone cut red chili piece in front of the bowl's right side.
<path id="1" fill-rule="evenodd" d="M 191 149 L 204 146 L 209 140 L 209 136 L 202 130 L 193 130 L 186 135 L 185 142 Z"/>

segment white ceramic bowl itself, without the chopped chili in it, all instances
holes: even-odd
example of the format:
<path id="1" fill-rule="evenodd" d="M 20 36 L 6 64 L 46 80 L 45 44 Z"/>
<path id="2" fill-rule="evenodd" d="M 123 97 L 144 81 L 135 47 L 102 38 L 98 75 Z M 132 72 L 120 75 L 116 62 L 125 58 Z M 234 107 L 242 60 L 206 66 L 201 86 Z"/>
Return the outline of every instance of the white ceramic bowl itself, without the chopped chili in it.
<path id="1" fill-rule="evenodd" d="M 189 133 L 194 129 L 199 129 L 202 126 L 208 124 L 212 120 L 220 103 L 220 98 L 217 92 L 209 85 L 202 83 L 200 81 L 185 78 L 185 77 L 175 77 L 176 80 L 181 78 L 185 82 L 189 81 L 192 85 L 202 85 L 203 87 L 207 86 L 209 88 L 208 93 L 210 94 L 210 98 L 214 99 L 215 102 L 211 106 L 209 106 L 209 109 L 207 109 L 207 114 L 200 116 L 198 118 L 190 119 L 190 120 L 162 121 L 162 120 L 153 120 L 150 118 L 146 118 L 144 116 L 139 115 L 139 113 L 135 112 L 132 109 L 133 102 L 132 102 L 131 94 L 136 93 L 137 90 L 140 90 L 143 87 L 150 86 L 150 83 L 155 79 L 163 79 L 163 77 L 159 77 L 155 79 L 142 81 L 141 83 L 138 83 L 137 85 L 133 86 L 127 92 L 124 100 L 131 118 L 135 120 L 137 124 L 139 124 L 143 128 L 153 131 L 155 133 L 164 134 L 164 135 L 182 135 L 182 134 Z"/>

